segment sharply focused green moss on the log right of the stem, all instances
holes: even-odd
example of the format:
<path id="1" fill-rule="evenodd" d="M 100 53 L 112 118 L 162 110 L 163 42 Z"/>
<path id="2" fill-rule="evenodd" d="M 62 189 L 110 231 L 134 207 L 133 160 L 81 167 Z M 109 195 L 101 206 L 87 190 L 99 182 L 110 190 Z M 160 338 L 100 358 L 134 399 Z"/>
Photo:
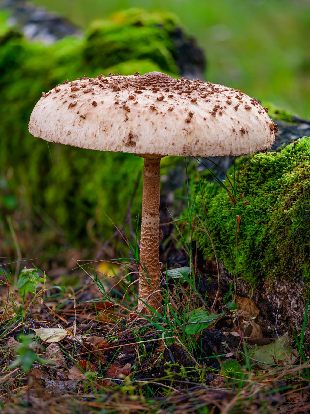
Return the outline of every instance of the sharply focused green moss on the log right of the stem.
<path id="1" fill-rule="evenodd" d="M 253 286 L 274 274 L 310 278 L 309 156 L 310 137 L 278 153 L 242 157 L 236 205 L 222 188 L 208 199 L 214 185 L 203 186 L 206 220 L 217 259 L 234 273 L 238 214 L 238 272 Z M 197 203 L 203 217 L 201 194 Z M 198 246 L 206 257 L 214 256 L 203 232 L 198 233 Z"/>

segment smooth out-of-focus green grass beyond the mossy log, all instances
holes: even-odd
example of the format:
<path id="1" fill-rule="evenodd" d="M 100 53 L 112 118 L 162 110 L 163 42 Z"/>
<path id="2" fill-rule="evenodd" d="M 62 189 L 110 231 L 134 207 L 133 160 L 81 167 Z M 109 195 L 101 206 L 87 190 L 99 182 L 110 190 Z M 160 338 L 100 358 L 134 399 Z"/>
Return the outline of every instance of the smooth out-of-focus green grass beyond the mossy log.
<path id="1" fill-rule="evenodd" d="M 206 80 L 310 114 L 309 0 L 36 0 L 83 29 L 129 7 L 173 12 L 207 57 Z"/>

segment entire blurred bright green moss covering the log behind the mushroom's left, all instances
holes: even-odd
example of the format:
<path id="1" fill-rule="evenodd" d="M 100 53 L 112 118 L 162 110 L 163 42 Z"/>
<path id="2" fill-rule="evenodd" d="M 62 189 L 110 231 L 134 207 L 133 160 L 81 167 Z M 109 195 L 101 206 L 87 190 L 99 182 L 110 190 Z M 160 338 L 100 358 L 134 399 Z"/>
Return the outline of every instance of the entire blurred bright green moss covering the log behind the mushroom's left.
<path id="1" fill-rule="evenodd" d="M 5 216 L 15 210 L 20 231 L 45 226 L 45 253 L 60 235 L 79 247 L 107 239 L 114 226 L 105 214 L 117 226 L 122 224 L 143 160 L 48 144 L 27 132 L 30 114 L 42 91 L 84 73 L 176 73 L 169 30 L 178 22 L 170 14 L 131 10 L 111 21 L 94 22 L 81 38 L 46 46 L 6 27 L 5 17 L 0 14 L 0 97 L 7 108 L 0 123 L 2 228 Z M 141 184 L 134 215 L 141 208 Z"/>

